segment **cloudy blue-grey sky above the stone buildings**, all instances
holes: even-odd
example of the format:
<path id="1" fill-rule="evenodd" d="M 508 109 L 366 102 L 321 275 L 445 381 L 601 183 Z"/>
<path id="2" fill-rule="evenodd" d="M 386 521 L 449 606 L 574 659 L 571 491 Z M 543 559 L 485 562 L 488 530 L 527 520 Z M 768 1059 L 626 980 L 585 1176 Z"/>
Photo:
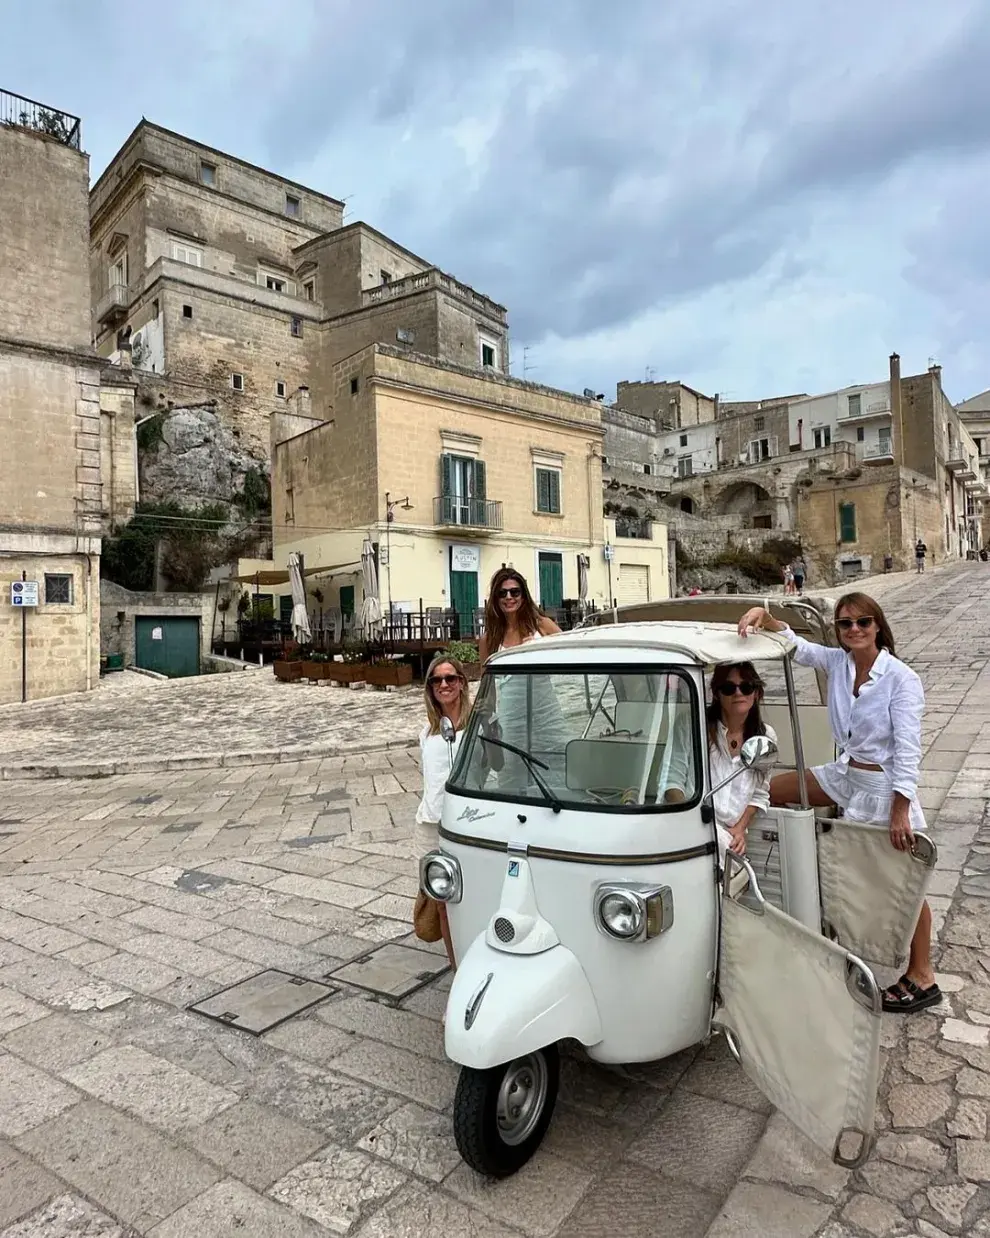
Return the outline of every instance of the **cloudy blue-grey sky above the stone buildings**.
<path id="1" fill-rule="evenodd" d="M 986 0 L 33 0 L 0 87 L 335 197 L 509 307 L 512 370 L 990 386 Z"/>

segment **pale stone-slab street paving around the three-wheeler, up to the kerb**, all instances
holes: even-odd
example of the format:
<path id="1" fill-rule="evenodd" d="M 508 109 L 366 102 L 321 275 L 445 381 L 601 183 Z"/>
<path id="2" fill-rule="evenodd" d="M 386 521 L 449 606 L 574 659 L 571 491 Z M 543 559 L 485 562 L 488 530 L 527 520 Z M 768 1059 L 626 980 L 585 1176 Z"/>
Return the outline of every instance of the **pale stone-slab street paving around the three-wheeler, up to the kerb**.
<path id="1" fill-rule="evenodd" d="M 988 1238 L 989 584 L 981 565 L 882 584 L 928 691 L 947 1002 L 885 1019 L 863 1170 L 771 1114 L 720 1041 L 627 1070 L 568 1057 L 520 1175 L 459 1164 L 448 978 L 408 937 L 418 771 L 394 749 L 2 784 L 0 1238 Z M 167 687 L 186 721 L 166 724 L 202 725 Z M 332 992 L 260 1036 L 187 1009 L 262 968 Z"/>

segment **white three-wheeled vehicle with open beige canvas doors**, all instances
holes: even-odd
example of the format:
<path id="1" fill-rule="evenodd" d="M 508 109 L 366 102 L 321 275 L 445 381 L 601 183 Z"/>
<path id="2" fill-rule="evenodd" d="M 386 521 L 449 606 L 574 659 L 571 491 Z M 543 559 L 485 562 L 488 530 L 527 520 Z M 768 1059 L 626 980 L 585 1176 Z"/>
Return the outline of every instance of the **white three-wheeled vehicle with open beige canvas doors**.
<path id="1" fill-rule="evenodd" d="M 738 618 L 747 599 L 721 600 Z M 934 848 L 900 853 L 885 829 L 816 820 L 803 723 L 812 764 L 834 748 L 820 698 L 798 702 L 786 636 L 742 639 L 700 607 L 687 621 L 662 605 L 660 618 L 616 615 L 489 661 L 441 844 L 421 860 L 458 962 L 444 1029 L 462 1066 L 454 1133 L 483 1174 L 512 1174 L 540 1145 L 562 1041 L 631 1063 L 714 1032 L 839 1164 L 869 1155 L 881 1008 L 866 961 L 906 957 Z M 829 639 L 820 608 L 773 613 Z M 740 773 L 793 768 L 802 802 L 771 808 L 747 857 L 721 870 L 705 670 L 742 661 L 778 672 L 785 699 L 765 708 L 777 744 L 746 740 Z"/>

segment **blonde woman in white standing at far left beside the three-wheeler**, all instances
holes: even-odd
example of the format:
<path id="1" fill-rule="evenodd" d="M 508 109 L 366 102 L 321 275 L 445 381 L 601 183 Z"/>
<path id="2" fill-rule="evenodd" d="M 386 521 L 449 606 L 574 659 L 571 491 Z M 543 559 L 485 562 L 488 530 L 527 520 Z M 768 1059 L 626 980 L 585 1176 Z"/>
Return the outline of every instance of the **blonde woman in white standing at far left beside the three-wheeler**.
<path id="1" fill-rule="evenodd" d="M 464 667 L 449 654 L 437 654 L 426 673 L 427 724 L 420 735 L 420 758 L 423 774 L 423 796 L 416 810 L 416 849 L 421 855 L 433 851 L 439 842 L 439 822 L 443 815 L 443 792 L 450 775 L 450 758 L 460 744 L 460 737 L 471 709 L 470 690 Z M 441 719 L 449 718 L 454 725 L 454 743 L 448 745 L 441 734 Z M 436 904 L 441 921 L 441 935 L 447 948 L 450 967 L 454 951 L 447 924 L 447 907 Z"/>

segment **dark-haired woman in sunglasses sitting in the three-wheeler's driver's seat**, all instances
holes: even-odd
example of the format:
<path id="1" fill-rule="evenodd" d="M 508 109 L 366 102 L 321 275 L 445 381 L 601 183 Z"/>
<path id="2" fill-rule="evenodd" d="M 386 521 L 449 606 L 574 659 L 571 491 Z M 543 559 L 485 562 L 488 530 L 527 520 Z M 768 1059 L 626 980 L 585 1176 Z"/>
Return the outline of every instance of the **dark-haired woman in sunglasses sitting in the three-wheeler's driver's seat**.
<path id="1" fill-rule="evenodd" d="M 764 681 L 751 662 L 719 665 L 712 673 L 712 701 L 705 709 L 708 721 L 708 759 L 712 786 L 725 782 L 741 768 L 742 744 L 752 735 L 766 735 L 775 743 L 773 728 L 760 717 Z M 678 744 L 671 763 L 669 781 L 663 799 L 676 803 L 684 799 L 683 780 L 688 777 L 691 744 Z M 684 769 L 679 765 L 683 764 Z M 745 854 L 746 831 L 757 812 L 770 807 L 770 770 L 752 768 L 738 774 L 731 782 L 717 791 L 715 834 L 719 862 L 725 852 Z"/>

